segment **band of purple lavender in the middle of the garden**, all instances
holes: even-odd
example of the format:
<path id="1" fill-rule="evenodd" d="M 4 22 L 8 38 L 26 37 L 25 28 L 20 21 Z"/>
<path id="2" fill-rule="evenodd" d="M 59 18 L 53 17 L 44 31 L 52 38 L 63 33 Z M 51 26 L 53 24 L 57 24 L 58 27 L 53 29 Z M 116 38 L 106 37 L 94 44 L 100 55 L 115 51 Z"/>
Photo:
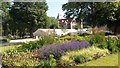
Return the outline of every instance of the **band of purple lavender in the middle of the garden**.
<path id="1" fill-rule="evenodd" d="M 69 41 L 63 44 L 44 46 L 40 49 L 40 58 L 47 59 L 50 54 L 53 54 L 54 58 L 59 58 L 66 51 L 81 49 L 83 47 L 87 47 L 88 45 L 89 42 L 86 41 Z"/>

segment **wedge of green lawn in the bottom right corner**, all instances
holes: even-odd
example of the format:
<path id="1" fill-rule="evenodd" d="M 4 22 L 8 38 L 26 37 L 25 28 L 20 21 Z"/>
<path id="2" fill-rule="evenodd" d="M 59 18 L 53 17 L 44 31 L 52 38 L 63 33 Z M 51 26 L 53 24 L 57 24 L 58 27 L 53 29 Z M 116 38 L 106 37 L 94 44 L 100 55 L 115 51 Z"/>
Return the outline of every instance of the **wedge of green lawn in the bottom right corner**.
<path id="1" fill-rule="evenodd" d="M 118 66 L 118 54 L 112 54 L 77 66 Z"/>

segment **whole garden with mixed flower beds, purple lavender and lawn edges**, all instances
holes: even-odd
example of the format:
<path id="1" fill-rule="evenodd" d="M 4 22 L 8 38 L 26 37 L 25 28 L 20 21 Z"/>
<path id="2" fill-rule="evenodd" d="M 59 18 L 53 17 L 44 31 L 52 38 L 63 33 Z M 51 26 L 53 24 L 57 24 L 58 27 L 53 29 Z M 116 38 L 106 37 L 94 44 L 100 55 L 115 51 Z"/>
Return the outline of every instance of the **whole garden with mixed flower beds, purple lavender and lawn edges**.
<path id="1" fill-rule="evenodd" d="M 2 66 L 118 66 L 120 39 L 93 35 L 43 35 L 34 42 L 1 46 Z"/>

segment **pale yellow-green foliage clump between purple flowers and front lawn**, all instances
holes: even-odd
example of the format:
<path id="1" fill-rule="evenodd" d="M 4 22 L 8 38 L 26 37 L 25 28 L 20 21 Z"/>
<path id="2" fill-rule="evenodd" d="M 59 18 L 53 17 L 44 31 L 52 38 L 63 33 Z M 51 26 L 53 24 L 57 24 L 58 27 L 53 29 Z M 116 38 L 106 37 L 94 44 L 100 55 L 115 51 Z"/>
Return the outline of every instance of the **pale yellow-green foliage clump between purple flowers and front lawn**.
<path id="1" fill-rule="evenodd" d="M 83 63 L 106 56 L 107 54 L 109 54 L 109 51 L 107 49 L 100 49 L 98 47 L 92 46 L 80 50 L 66 52 L 65 55 L 60 58 L 60 63 L 63 66 L 71 65 L 74 62 Z"/>

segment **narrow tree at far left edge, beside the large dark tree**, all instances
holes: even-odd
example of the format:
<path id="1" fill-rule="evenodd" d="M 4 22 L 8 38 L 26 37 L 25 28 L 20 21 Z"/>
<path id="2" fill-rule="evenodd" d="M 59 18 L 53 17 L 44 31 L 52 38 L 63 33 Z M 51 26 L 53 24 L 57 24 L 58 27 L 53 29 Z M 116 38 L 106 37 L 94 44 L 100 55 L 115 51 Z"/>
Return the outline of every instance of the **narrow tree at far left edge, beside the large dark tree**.
<path id="1" fill-rule="evenodd" d="M 10 16 L 8 12 L 8 8 L 11 6 L 10 2 L 2 2 L 0 1 L 1 9 L 0 9 L 0 18 L 2 18 L 2 30 L 3 35 L 7 35 L 10 32 L 9 23 L 10 23 Z"/>

